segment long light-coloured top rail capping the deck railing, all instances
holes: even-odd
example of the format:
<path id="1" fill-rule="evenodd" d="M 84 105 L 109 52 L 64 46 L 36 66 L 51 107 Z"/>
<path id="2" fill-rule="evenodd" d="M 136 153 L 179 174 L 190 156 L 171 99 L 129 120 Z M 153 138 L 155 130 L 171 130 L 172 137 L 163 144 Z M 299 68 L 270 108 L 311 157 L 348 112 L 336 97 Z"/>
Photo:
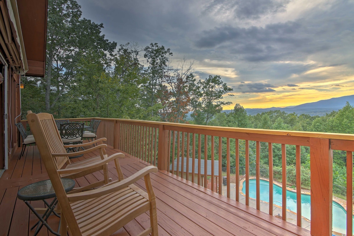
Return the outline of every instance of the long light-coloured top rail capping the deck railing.
<path id="1" fill-rule="evenodd" d="M 354 134 L 341 134 L 341 133 L 324 133 L 324 132 L 304 132 L 304 131 L 285 131 L 285 130 L 270 130 L 270 129 L 253 129 L 253 128 L 235 128 L 235 127 L 221 127 L 221 126 L 207 126 L 207 125 L 192 125 L 184 123 L 171 123 L 161 121 L 144 121 L 144 120 L 127 120 L 117 118 L 102 118 L 102 117 L 81 117 L 81 118 L 68 118 L 70 120 L 115 120 L 121 122 L 138 122 L 147 125 L 164 125 L 173 130 L 173 127 L 184 127 L 192 129 L 191 133 L 198 133 L 198 130 L 213 130 L 213 131 L 228 131 L 249 134 L 265 134 L 277 136 L 294 136 L 294 137 L 308 137 L 308 138 L 325 138 L 325 139 L 340 139 L 340 140 L 354 140 Z M 22 120 L 27 121 L 27 120 Z"/>

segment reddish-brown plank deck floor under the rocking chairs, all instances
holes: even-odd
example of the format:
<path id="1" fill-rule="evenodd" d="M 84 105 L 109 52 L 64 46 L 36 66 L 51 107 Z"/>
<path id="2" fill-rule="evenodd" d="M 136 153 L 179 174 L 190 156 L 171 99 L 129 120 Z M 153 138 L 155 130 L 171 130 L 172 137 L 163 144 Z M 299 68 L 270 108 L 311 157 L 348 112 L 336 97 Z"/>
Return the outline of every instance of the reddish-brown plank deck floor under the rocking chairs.
<path id="1" fill-rule="evenodd" d="M 107 149 L 108 154 L 118 150 Z M 19 150 L 15 153 L 18 156 Z M 88 157 L 88 156 L 86 156 Z M 85 157 L 80 157 L 82 160 Z M 120 160 L 125 177 L 149 165 L 135 157 Z M 10 168 L 0 178 L 0 236 L 33 235 L 29 229 L 36 222 L 34 214 L 21 200 L 17 191 L 25 185 L 48 179 L 36 146 L 29 146 L 21 160 L 12 159 Z M 117 179 L 114 163 L 109 164 L 109 175 Z M 102 179 L 101 173 L 76 179 L 78 186 Z M 186 181 L 166 171 L 151 175 L 157 197 L 159 235 L 310 235 L 306 229 L 257 211 L 215 192 Z M 141 179 L 137 185 L 145 189 Z M 41 201 L 32 201 L 34 207 L 44 207 Z M 51 216 L 48 224 L 56 229 L 59 219 Z M 114 235 L 136 235 L 149 226 L 146 213 L 131 221 Z M 42 228 L 38 235 L 52 235 Z"/>

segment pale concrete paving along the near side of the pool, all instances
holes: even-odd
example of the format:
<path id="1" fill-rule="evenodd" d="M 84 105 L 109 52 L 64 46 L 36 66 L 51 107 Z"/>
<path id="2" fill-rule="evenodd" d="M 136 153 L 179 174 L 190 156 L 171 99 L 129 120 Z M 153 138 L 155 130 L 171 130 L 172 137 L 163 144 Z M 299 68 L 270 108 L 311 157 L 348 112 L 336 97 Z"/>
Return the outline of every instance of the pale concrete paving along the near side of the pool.
<path id="1" fill-rule="evenodd" d="M 227 186 L 226 185 L 222 185 L 222 195 L 223 196 L 226 196 L 226 192 L 227 192 Z M 236 184 L 233 184 L 233 183 L 230 183 L 230 198 L 233 199 L 233 200 L 236 200 L 236 192 L 237 194 L 239 194 L 239 200 L 241 203 L 245 204 L 246 203 L 246 197 L 243 196 L 242 194 L 240 194 L 239 192 L 239 188 L 237 187 L 236 188 Z M 250 198 L 250 201 L 249 201 L 249 205 L 250 207 L 253 207 L 253 208 L 256 208 L 256 200 Z M 265 202 L 261 202 L 260 204 L 260 210 L 262 212 L 265 212 L 265 213 L 269 213 L 269 204 L 268 203 L 265 203 Z M 280 207 L 277 207 L 277 206 L 274 206 L 273 205 L 273 215 L 282 215 L 282 212 L 281 212 L 281 208 Z M 294 213 L 291 213 L 289 211 L 286 212 L 286 221 L 292 223 L 292 224 L 297 224 L 297 221 L 296 221 L 296 214 Z M 305 219 L 302 219 L 301 220 L 301 225 L 302 225 L 302 228 L 305 228 L 305 229 L 308 229 L 310 230 L 310 222 L 305 220 Z"/>

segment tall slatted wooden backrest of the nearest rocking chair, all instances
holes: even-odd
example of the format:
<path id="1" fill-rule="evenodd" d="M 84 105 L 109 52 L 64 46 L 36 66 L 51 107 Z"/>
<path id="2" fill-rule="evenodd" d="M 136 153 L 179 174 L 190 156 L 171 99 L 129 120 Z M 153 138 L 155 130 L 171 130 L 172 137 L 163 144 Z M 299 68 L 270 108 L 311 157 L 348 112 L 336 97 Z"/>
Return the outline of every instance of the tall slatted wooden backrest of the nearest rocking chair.
<path id="1" fill-rule="evenodd" d="M 52 157 L 52 153 L 65 152 L 65 148 L 63 146 L 63 142 L 55 124 L 53 115 L 48 113 L 35 114 L 32 113 L 32 111 L 28 111 L 27 120 L 29 127 L 32 130 L 33 136 L 36 139 L 41 159 L 43 160 L 47 169 L 47 173 L 52 182 L 60 207 L 62 209 L 62 213 L 65 215 L 65 218 L 76 221 L 60 176 L 57 172 L 57 164 L 55 163 L 55 159 Z M 73 223 L 71 230 L 73 232 L 80 232 L 77 222 L 71 223 Z"/>

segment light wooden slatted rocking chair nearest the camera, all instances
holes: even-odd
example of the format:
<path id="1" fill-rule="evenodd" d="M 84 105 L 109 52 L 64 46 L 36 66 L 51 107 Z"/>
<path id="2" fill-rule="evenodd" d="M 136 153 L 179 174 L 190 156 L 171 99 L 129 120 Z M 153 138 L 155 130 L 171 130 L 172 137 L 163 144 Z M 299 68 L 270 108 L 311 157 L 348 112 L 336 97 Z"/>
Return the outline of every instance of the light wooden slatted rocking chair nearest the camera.
<path id="1" fill-rule="evenodd" d="M 117 158 L 115 164 L 117 172 L 121 175 L 119 180 L 98 189 L 67 194 L 60 179 L 61 174 L 66 173 L 65 169 L 58 169 L 57 159 L 55 159 L 58 156 L 63 157 L 65 148 L 61 143 L 53 116 L 47 113 L 34 114 L 29 112 L 27 119 L 35 139 L 38 140 L 37 146 L 41 158 L 59 201 L 62 213 L 61 235 L 67 235 L 68 227 L 72 235 L 75 236 L 111 235 L 148 210 L 150 211 L 151 226 L 141 232 L 139 236 L 150 233 L 152 236 L 158 235 L 156 200 L 149 175 L 150 172 L 157 172 L 155 166 L 145 167 L 132 176 L 123 179 Z M 59 145 L 60 143 L 61 145 Z M 97 145 L 95 149 L 101 145 Z M 102 150 L 102 148 L 100 149 Z M 58 150 L 61 154 L 53 154 Z M 117 156 L 124 156 L 124 154 L 120 153 Z M 88 170 L 89 166 L 96 168 L 98 164 L 91 163 L 85 167 L 79 166 L 70 169 L 71 171 L 82 172 Z M 144 177 L 147 192 L 133 185 L 142 177 Z"/>

